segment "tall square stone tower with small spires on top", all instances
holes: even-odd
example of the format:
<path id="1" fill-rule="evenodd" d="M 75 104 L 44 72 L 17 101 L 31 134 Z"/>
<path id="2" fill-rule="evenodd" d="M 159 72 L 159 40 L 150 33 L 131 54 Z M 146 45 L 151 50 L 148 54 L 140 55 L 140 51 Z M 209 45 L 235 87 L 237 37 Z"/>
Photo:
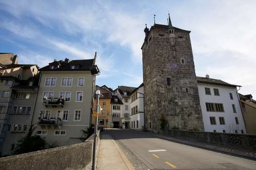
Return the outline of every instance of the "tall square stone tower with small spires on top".
<path id="1" fill-rule="evenodd" d="M 190 31 L 154 24 L 144 29 L 141 47 L 145 99 L 145 126 L 159 130 L 164 115 L 169 129 L 203 131 Z"/>

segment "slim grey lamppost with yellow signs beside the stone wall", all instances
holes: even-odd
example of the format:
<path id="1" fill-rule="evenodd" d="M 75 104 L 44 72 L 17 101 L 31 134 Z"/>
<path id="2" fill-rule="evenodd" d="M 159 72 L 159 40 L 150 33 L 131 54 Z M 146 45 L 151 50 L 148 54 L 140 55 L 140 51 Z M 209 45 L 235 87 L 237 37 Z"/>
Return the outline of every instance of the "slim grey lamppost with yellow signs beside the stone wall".
<path id="1" fill-rule="evenodd" d="M 96 95 L 97 95 L 97 101 L 96 101 L 96 108 L 97 108 L 97 113 L 93 114 L 95 117 L 94 120 L 94 138 L 93 138 L 93 162 L 92 162 L 92 170 L 95 170 L 95 157 L 96 157 L 96 139 L 97 139 L 97 129 L 98 129 L 98 114 L 99 114 L 99 96 L 100 96 L 100 91 L 96 90 Z"/>

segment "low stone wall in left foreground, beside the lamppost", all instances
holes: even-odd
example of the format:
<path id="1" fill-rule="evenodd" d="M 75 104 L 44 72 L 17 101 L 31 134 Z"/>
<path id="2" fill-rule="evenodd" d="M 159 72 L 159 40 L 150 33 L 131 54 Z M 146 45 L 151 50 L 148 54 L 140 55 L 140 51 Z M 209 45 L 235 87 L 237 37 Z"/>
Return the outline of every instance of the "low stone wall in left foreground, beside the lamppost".
<path id="1" fill-rule="evenodd" d="M 97 143 L 99 143 L 99 140 L 100 138 L 98 131 Z M 0 169 L 91 169 L 92 150 L 93 135 L 82 143 L 0 158 Z"/>

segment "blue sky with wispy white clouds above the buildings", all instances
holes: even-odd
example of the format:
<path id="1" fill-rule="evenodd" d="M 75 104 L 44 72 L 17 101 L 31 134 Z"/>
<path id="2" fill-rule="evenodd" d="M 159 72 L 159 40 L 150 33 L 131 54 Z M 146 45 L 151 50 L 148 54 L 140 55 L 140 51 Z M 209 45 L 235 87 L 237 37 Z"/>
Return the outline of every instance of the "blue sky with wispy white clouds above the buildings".
<path id="1" fill-rule="evenodd" d="M 4 1 L 0 52 L 42 67 L 98 53 L 98 85 L 142 82 L 144 24 L 191 30 L 197 76 L 243 86 L 256 97 L 256 1 Z"/>

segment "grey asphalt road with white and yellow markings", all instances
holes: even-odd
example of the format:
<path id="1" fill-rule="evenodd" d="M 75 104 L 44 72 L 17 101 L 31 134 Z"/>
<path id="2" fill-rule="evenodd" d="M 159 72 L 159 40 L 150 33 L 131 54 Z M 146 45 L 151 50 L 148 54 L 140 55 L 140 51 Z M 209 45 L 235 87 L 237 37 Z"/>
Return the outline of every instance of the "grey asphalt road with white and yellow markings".
<path id="1" fill-rule="evenodd" d="M 121 142 L 121 147 L 129 149 L 148 169 L 256 169 L 256 161 L 159 139 L 153 133 L 131 130 L 103 133 Z M 134 158 L 130 160 L 136 163 Z"/>

